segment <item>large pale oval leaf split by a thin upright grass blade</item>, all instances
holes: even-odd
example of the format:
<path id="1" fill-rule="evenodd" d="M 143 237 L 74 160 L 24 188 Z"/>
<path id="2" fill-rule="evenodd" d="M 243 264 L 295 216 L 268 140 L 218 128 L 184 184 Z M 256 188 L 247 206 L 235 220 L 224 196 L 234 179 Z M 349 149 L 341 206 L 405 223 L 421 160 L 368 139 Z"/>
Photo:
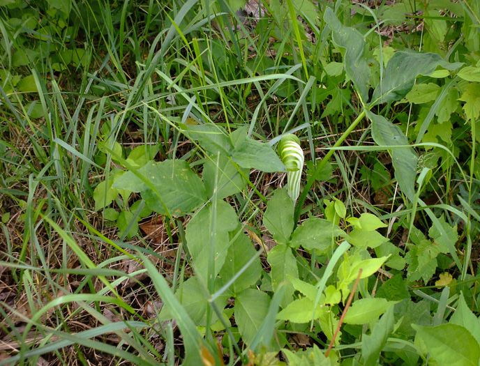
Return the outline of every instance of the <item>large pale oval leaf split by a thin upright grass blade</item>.
<path id="1" fill-rule="evenodd" d="M 217 275 L 222 268 L 227 250 L 230 247 L 229 231 L 237 229 L 239 220 L 235 210 L 227 202 L 218 200 L 216 202 L 216 215 L 212 218 L 213 203 L 204 206 L 188 222 L 186 228 L 186 240 L 188 250 L 193 259 L 195 273 L 207 282 L 209 274 Z M 211 220 L 214 220 L 213 225 Z M 211 232 L 212 226 L 215 231 Z M 215 268 L 209 268 L 211 243 L 213 241 L 213 251 Z"/>

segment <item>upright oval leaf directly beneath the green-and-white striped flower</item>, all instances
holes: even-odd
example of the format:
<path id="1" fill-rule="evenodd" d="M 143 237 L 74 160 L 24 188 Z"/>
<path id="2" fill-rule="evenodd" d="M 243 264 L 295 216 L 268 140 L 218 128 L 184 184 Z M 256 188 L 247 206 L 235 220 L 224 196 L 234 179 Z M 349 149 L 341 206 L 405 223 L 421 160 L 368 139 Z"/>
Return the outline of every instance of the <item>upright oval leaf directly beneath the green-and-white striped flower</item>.
<path id="1" fill-rule="evenodd" d="M 290 234 L 292 234 L 293 211 L 294 204 L 287 190 L 285 188 L 276 190 L 269 200 L 263 224 L 279 244 L 287 244 Z"/>

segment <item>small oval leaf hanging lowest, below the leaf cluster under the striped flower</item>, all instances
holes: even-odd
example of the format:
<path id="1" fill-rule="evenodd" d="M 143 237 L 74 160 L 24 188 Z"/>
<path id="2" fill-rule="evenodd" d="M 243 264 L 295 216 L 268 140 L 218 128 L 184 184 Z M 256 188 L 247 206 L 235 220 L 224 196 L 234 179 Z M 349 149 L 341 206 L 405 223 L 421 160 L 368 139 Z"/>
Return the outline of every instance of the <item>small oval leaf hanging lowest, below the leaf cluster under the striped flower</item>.
<path id="1" fill-rule="evenodd" d="M 269 312 L 270 297 L 257 289 L 246 289 L 235 299 L 235 321 L 242 340 L 251 344 Z"/>

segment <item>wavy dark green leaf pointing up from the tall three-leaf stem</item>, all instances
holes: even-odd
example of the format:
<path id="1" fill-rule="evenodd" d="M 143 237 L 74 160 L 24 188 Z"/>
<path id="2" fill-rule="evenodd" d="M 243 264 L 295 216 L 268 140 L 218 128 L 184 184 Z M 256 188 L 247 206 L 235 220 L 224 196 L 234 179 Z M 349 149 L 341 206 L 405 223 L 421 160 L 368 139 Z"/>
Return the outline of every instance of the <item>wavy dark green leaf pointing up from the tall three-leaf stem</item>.
<path id="1" fill-rule="evenodd" d="M 327 7 L 324 21 L 332 31 L 332 40 L 339 47 L 345 48 L 345 72 L 352 79 L 364 102 L 368 100 L 368 82 L 370 68 L 365 56 L 366 42 L 357 29 L 344 26 L 337 19 L 331 8 Z"/>

